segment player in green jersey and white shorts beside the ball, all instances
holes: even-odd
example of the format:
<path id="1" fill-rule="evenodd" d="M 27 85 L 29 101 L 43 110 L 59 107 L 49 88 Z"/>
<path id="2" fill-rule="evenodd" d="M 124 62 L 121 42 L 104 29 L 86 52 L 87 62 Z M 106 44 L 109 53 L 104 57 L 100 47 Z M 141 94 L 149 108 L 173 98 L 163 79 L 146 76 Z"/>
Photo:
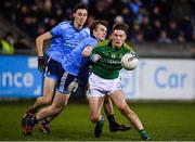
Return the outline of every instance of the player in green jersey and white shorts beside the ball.
<path id="1" fill-rule="evenodd" d="M 129 107 L 121 91 L 119 72 L 122 68 L 120 61 L 122 55 L 132 49 L 125 43 L 128 33 L 128 25 L 115 24 L 113 27 L 112 40 L 100 42 L 91 53 L 92 74 L 89 77 L 89 107 L 90 119 L 96 122 L 94 134 L 101 137 L 104 118 L 101 108 L 104 98 L 108 95 L 127 119 L 132 122 L 139 131 L 142 140 L 150 140 L 138 115 Z"/>

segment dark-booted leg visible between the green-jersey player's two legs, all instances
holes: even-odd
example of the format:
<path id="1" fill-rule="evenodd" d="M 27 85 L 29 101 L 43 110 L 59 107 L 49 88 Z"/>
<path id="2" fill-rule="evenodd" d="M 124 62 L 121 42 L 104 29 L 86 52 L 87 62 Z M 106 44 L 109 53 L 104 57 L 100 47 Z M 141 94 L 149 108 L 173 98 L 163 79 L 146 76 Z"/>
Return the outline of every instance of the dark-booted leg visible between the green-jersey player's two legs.
<path id="1" fill-rule="evenodd" d="M 109 122 L 109 130 L 110 130 L 110 132 L 127 131 L 127 130 L 131 129 L 130 126 L 121 125 L 120 122 L 117 122 L 115 120 L 113 102 L 112 102 L 109 96 L 105 96 L 105 100 L 104 100 L 104 112 L 105 112 L 106 117 L 107 117 L 108 122 Z"/>

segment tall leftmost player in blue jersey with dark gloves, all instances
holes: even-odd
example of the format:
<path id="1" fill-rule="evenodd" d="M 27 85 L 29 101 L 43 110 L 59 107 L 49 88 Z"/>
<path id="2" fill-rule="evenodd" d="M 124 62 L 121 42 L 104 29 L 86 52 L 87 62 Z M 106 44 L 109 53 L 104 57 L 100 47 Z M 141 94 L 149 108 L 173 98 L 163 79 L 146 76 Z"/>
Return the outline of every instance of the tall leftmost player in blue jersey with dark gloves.
<path id="1" fill-rule="evenodd" d="M 43 95 L 39 96 L 35 104 L 30 106 L 23 115 L 22 126 L 24 127 L 24 133 L 30 134 L 31 128 L 27 126 L 26 121 L 30 119 L 42 105 L 50 104 L 53 99 L 54 92 L 61 93 L 61 78 L 67 78 L 64 86 L 68 86 L 73 80 L 73 76 L 64 74 L 62 67 L 62 61 L 64 56 L 69 54 L 78 44 L 90 36 L 89 28 L 84 27 L 84 23 L 88 17 L 88 9 L 84 4 L 77 4 L 73 12 L 74 21 L 63 22 L 55 26 L 51 31 L 48 31 L 36 39 L 36 46 L 38 51 L 38 70 L 44 72 L 43 81 Z M 46 57 L 43 57 L 43 42 L 52 39 L 49 51 Z M 55 85 L 57 86 L 56 91 Z M 64 90 L 63 90 L 64 91 Z M 50 106 L 52 107 L 52 106 Z M 61 112 L 58 109 L 51 109 L 51 112 Z M 52 118 L 55 115 L 50 116 Z M 41 122 L 41 130 L 49 132 L 48 121 Z"/>

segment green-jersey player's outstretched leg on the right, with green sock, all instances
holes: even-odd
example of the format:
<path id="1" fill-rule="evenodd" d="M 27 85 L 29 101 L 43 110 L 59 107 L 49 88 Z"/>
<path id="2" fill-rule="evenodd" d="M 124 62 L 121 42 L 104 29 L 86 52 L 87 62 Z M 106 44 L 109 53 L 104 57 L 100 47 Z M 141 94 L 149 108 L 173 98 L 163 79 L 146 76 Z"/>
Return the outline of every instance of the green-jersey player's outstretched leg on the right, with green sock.
<path id="1" fill-rule="evenodd" d="M 126 102 L 125 95 L 120 90 L 116 90 L 110 94 L 112 100 L 116 104 L 116 106 L 119 108 L 122 115 L 127 117 L 127 119 L 132 122 L 132 125 L 135 127 L 135 129 L 139 131 L 142 140 L 150 140 L 150 135 L 144 130 L 143 125 L 141 120 L 139 119 L 138 115 L 129 107 L 129 105 Z"/>

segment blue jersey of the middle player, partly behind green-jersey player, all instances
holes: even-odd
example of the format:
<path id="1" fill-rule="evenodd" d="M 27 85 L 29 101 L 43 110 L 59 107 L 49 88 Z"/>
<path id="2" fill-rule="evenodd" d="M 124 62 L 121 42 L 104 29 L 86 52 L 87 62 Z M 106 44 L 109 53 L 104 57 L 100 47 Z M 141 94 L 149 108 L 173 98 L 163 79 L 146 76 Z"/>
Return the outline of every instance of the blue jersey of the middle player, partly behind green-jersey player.
<path id="1" fill-rule="evenodd" d="M 84 39 L 77 48 L 72 51 L 72 53 L 69 53 L 67 56 L 64 56 L 62 62 L 63 68 L 69 74 L 77 76 L 80 67 L 86 64 L 87 61 L 82 56 L 83 49 L 88 46 L 93 48 L 96 43 L 98 41 L 93 37 Z"/>

